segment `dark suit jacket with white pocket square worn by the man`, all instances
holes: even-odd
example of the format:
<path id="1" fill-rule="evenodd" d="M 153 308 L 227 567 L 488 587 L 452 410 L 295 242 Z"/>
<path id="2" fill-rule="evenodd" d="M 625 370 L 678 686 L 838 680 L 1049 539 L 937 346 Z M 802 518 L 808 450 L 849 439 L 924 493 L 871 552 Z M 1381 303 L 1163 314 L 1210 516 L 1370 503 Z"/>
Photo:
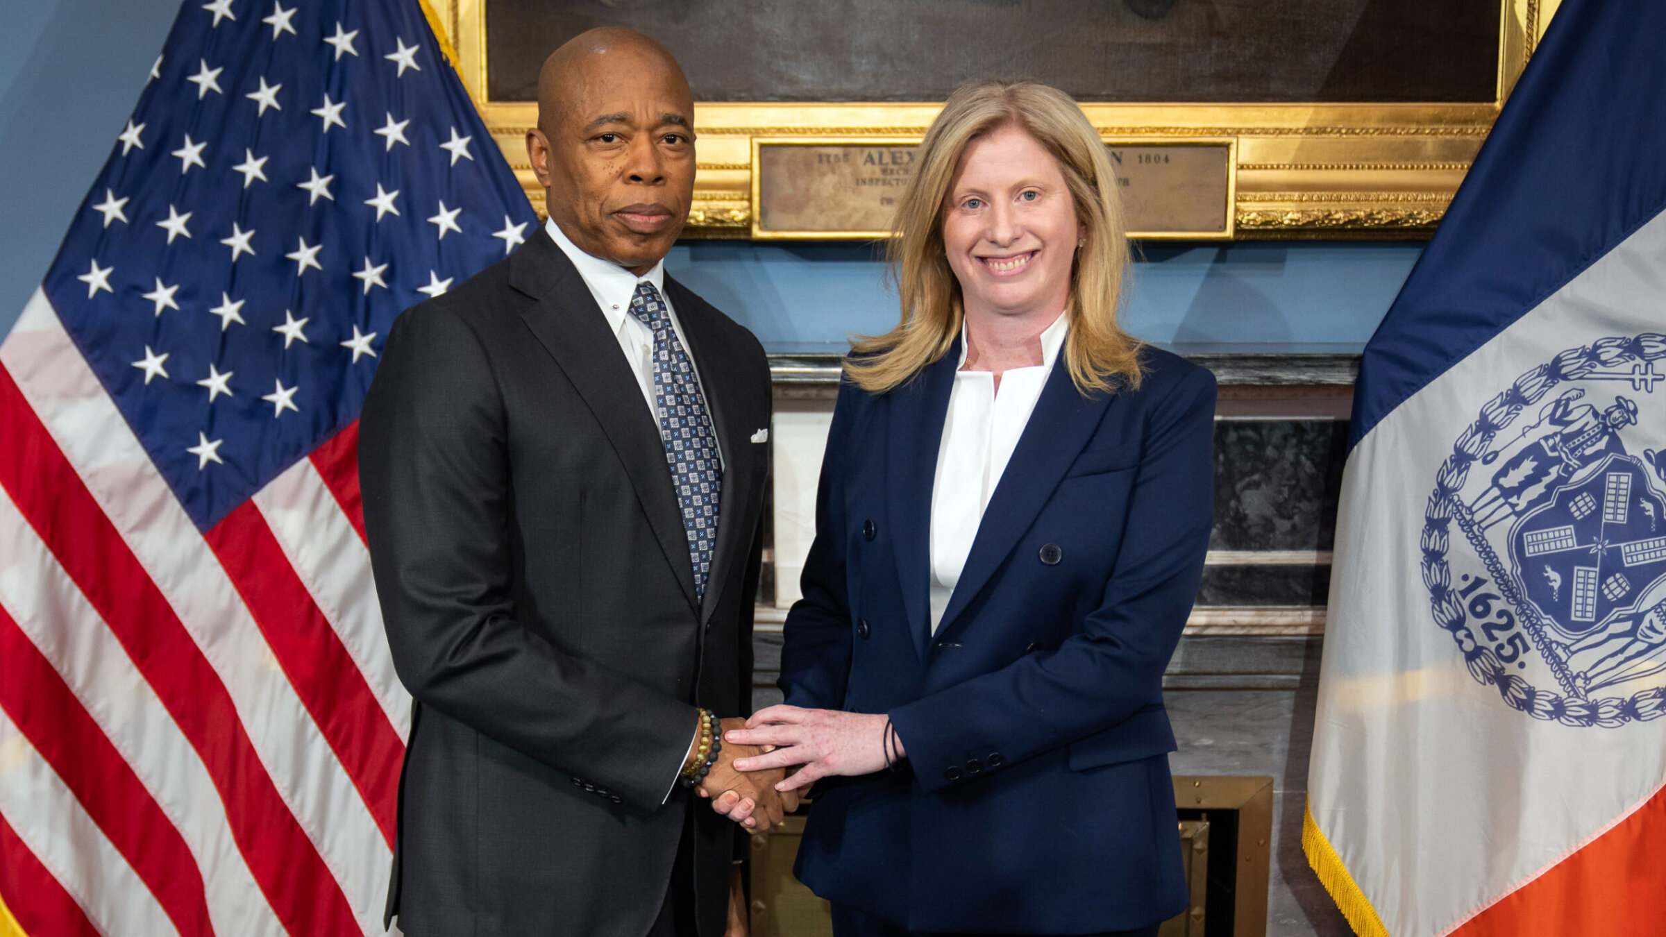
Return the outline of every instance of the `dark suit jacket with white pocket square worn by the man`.
<path id="1" fill-rule="evenodd" d="M 658 422 L 546 233 L 388 335 L 358 453 L 415 697 L 388 894 L 413 937 L 641 937 L 690 810 L 681 787 L 661 799 L 695 705 L 750 712 L 768 363 L 665 283 L 723 448 L 703 607 Z M 716 935 L 735 827 L 693 814 L 698 917 Z"/>

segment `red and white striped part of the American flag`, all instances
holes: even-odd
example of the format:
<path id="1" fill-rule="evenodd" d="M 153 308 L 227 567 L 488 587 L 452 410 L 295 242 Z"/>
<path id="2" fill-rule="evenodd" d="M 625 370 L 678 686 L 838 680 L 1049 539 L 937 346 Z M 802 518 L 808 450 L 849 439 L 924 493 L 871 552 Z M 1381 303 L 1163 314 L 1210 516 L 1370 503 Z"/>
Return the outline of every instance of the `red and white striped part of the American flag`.
<path id="1" fill-rule="evenodd" d="M 202 534 L 42 292 L 0 345 L 0 899 L 30 937 L 383 932 L 410 697 L 355 437 Z"/>

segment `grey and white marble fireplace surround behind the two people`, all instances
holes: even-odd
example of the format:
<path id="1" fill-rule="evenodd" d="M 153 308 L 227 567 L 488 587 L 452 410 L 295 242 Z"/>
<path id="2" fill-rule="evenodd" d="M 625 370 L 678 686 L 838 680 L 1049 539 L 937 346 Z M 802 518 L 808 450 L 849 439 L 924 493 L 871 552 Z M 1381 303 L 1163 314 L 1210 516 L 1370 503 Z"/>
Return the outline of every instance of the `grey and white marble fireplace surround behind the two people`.
<path id="1" fill-rule="evenodd" d="M 1351 934 L 1301 854 L 1336 495 L 1358 347 L 1178 345 L 1220 382 L 1215 530 L 1163 687 L 1183 775 L 1271 775 L 1268 937 Z M 815 534 L 836 353 L 771 353 L 775 425 L 755 705 L 780 700 L 781 622 Z"/>

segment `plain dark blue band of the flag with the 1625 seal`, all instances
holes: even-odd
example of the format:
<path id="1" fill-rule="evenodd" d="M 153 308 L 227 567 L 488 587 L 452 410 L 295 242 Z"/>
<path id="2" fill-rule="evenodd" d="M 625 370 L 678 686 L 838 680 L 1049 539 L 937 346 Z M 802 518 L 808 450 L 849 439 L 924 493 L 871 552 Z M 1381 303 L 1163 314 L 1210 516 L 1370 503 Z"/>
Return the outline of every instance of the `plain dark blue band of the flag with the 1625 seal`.
<path id="1" fill-rule="evenodd" d="M 1559 7 L 1366 345 L 1349 447 L 1666 208 L 1663 37 L 1666 3 Z"/>

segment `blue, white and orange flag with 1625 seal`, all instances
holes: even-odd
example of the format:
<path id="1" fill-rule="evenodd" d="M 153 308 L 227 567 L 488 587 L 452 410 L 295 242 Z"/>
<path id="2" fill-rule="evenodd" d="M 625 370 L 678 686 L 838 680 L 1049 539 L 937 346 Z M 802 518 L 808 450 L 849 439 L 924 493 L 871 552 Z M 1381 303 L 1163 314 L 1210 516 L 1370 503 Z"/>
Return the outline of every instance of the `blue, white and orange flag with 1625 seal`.
<path id="1" fill-rule="evenodd" d="M 1366 347 L 1303 845 L 1366 937 L 1666 934 L 1666 3 L 1568 0 Z"/>

